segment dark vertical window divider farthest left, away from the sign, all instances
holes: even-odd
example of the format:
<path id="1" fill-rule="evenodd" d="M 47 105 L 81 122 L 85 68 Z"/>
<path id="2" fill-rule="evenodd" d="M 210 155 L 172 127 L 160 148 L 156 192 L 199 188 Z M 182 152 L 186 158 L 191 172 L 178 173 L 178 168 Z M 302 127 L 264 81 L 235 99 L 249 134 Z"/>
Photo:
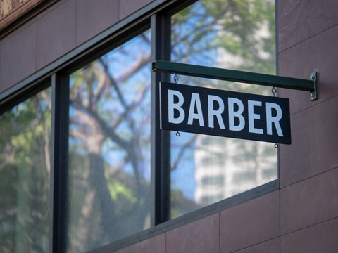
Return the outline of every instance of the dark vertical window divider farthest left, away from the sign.
<path id="1" fill-rule="evenodd" d="M 69 77 L 51 75 L 51 190 L 49 252 L 67 250 Z"/>

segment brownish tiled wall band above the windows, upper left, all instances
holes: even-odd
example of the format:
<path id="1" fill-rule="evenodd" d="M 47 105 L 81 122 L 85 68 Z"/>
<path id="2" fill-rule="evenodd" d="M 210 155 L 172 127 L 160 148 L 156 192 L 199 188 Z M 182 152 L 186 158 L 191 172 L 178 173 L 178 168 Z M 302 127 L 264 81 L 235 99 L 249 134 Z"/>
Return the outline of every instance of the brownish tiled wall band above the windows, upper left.
<path id="1" fill-rule="evenodd" d="M 0 41 L 0 93 L 151 0 L 60 0 Z"/>

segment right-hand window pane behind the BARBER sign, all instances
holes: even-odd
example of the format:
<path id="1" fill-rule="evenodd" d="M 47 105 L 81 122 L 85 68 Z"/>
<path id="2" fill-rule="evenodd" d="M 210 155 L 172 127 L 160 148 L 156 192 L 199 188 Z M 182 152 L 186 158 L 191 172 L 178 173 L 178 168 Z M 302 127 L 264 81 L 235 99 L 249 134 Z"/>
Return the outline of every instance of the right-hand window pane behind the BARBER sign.
<path id="1" fill-rule="evenodd" d="M 203 0 L 172 17 L 171 60 L 275 74 L 275 1 Z M 252 84 L 179 76 L 180 84 L 270 95 Z M 171 133 L 171 216 L 277 179 L 273 143 Z"/>

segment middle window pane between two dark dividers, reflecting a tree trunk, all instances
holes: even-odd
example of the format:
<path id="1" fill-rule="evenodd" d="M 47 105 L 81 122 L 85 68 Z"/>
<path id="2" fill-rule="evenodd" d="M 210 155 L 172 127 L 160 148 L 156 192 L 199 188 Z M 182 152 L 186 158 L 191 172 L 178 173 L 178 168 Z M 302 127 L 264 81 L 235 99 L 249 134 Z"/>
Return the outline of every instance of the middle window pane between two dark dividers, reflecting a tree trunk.
<path id="1" fill-rule="evenodd" d="M 68 249 L 150 227 L 150 32 L 70 76 Z"/>

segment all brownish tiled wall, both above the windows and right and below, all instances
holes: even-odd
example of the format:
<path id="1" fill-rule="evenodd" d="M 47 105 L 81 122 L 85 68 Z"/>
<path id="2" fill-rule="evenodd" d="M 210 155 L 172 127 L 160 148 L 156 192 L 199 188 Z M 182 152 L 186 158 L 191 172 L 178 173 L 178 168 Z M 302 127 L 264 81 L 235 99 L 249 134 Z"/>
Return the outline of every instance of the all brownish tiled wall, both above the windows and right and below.
<path id="1" fill-rule="evenodd" d="M 151 0 L 61 0 L 0 41 L 0 93 Z M 118 8 L 117 8 L 118 6 Z M 338 251 L 338 2 L 277 1 L 279 74 L 319 71 L 319 99 L 290 98 L 280 190 L 143 240 L 127 252 Z"/>

